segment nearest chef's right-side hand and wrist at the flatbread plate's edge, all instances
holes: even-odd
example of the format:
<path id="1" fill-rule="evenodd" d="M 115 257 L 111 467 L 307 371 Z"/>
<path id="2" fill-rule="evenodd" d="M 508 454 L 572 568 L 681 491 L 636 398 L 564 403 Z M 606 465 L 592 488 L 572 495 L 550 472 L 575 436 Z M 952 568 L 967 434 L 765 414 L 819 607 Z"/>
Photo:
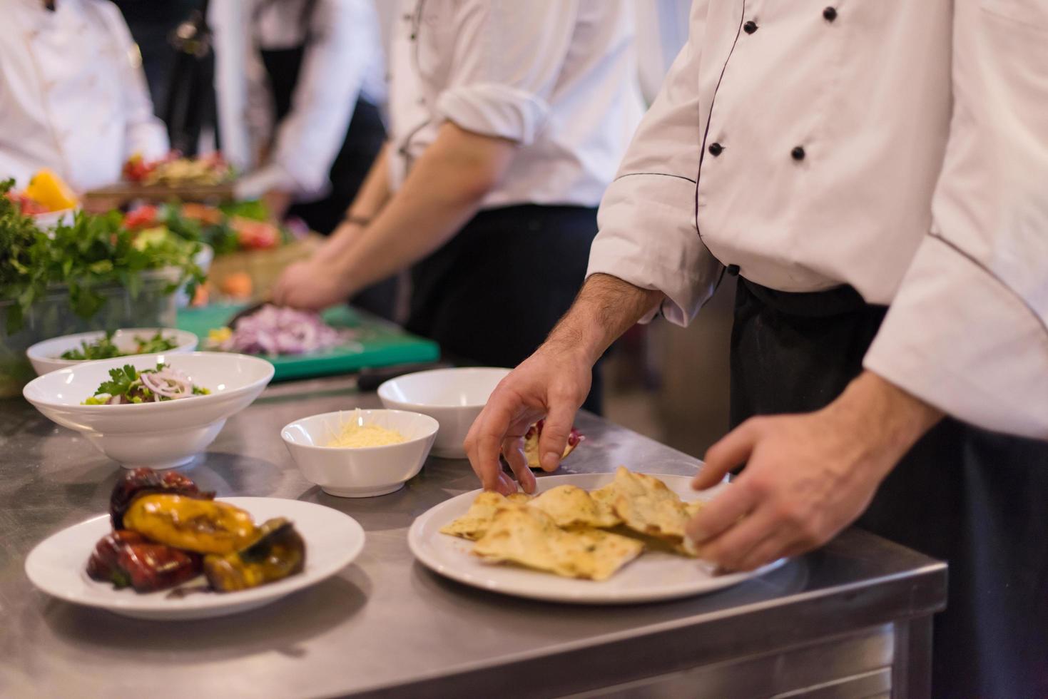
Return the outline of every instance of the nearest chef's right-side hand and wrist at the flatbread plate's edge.
<path id="1" fill-rule="evenodd" d="M 746 464 L 690 523 L 699 555 L 752 570 L 825 544 L 854 522 L 880 481 L 942 413 L 865 372 L 823 410 L 756 417 L 706 452 L 693 487 Z"/>

